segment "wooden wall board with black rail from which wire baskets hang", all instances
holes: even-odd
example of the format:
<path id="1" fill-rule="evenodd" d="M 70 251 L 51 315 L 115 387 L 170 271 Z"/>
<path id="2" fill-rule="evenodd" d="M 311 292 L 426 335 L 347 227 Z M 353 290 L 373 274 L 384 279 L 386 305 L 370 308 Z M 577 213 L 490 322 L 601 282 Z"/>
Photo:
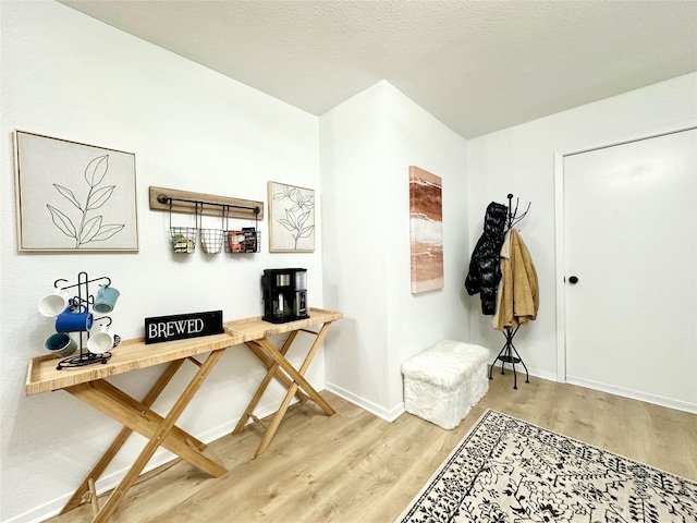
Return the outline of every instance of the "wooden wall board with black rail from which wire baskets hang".
<path id="1" fill-rule="evenodd" d="M 150 210 L 264 219 L 264 202 L 150 186 Z"/>

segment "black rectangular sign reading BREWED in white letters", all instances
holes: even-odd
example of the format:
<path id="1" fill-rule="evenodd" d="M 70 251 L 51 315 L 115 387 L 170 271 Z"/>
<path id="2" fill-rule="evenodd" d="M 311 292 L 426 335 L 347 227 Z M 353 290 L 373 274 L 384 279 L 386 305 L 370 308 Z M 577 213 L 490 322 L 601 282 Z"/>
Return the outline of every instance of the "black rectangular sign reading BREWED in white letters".
<path id="1" fill-rule="evenodd" d="M 220 335 L 223 331 L 222 311 L 145 318 L 146 344 Z"/>

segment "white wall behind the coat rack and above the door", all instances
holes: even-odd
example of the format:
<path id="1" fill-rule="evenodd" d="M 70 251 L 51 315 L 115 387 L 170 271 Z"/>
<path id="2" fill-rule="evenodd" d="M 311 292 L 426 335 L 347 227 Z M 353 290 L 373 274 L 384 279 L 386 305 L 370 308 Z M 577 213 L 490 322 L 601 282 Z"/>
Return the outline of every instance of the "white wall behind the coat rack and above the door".
<path id="1" fill-rule="evenodd" d="M 564 111 L 467 142 L 470 242 L 481 234 L 486 206 L 506 194 L 531 202 L 518 229 L 537 267 L 540 311 L 514 343 L 530 372 L 557 378 L 554 154 L 565 154 L 697 123 L 697 73 Z M 619 203 L 621 206 L 621 203 Z M 589 209 L 589 211 L 592 211 Z M 695 238 L 685 248 L 695 248 Z M 498 350 L 503 336 L 480 314 L 479 296 L 467 299 L 473 339 Z M 496 355 L 496 354 L 493 354 Z M 494 373 L 494 379 L 498 378 Z"/>

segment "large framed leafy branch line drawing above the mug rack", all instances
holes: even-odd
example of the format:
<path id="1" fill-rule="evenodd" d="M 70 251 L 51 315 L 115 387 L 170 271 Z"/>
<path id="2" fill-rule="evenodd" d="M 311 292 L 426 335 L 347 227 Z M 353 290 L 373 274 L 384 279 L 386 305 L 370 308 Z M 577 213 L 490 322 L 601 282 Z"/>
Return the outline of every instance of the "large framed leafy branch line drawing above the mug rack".
<path id="1" fill-rule="evenodd" d="M 20 251 L 138 251 L 135 155 L 14 132 Z"/>

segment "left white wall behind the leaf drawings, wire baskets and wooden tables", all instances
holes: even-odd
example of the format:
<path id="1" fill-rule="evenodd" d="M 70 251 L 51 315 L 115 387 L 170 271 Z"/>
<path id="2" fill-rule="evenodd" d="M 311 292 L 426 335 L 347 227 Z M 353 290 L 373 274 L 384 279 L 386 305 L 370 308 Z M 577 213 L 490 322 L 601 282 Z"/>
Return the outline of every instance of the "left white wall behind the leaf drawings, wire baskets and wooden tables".
<path id="1" fill-rule="evenodd" d="M 0 520 L 19 522 L 59 510 L 120 428 L 65 392 L 25 396 L 28 360 L 44 353 L 42 340 L 52 331 L 36 309 L 39 297 L 56 279 L 74 279 L 82 270 L 109 276 L 121 291 L 115 330 L 135 338 L 148 316 L 211 309 L 222 309 L 225 320 L 259 315 L 262 270 L 299 266 L 308 269 L 309 305 L 323 306 L 321 227 L 311 254 L 270 254 L 262 223 L 259 254 L 205 256 L 198 247 L 175 257 L 168 215 L 148 208 L 150 185 L 266 202 L 267 181 L 274 180 L 319 194 L 319 142 L 316 117 L 62 4 L 2 1 L 0 19 Z M 15 129 L 135 153 L 139 253 L 17 253 Z M 193 218 L 175 216 L 175 224 Z M 208 227 L 218 227 L 217 220 Z M 188 377 L 193 369 L 185 367 Z M 160 370 L 113 381 L 139 398 Z M 229 350 L 185 411 L 182 427 L 207 441 L 222 436 L 262 374 L 244 346 Z M 323 387 L 321 353 L 308 378 Z M 184 385 L 171 384 L 157 410 L 166 412 Z M 280 386 L 271 391 L 261 414 L 280 402 Z M 131 464 L 143 442 L 134 439 L 107 476 Z"/>

